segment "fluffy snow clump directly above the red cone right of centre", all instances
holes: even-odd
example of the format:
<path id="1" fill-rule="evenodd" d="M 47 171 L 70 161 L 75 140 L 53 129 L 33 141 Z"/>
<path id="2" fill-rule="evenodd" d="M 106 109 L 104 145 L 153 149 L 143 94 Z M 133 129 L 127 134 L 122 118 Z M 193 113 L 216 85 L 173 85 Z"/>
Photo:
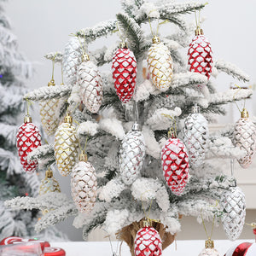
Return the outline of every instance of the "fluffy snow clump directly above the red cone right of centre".
<path id="1" fill-rule="evenodd" d="M 173 120 L 171 118 L 167 118 L 165 115 L 170 115 L 173 118 L 181 115 L 182 110 L 180 108 L 174 108 L 173 110 L 167 108 L 159 108 L 155 110 L 154 114 L 152 114 L 148 120 L 147 125 L 150 128 L 155 130 L 167 130 L 171 127 Z"/>

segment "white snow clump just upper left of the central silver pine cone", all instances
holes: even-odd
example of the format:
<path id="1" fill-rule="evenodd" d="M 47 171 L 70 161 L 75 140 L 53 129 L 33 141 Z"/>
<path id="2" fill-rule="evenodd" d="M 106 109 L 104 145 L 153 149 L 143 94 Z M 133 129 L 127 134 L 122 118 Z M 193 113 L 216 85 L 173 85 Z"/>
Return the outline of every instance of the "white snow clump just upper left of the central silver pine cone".
<path id="1" fill-rule="evenodd" d="M 118 119 L 102 119 L 99 128 L 110 133 L 113 137 L 116 137 L 119 140 L 122 140 L 125 136 L 122 122 Z"/>

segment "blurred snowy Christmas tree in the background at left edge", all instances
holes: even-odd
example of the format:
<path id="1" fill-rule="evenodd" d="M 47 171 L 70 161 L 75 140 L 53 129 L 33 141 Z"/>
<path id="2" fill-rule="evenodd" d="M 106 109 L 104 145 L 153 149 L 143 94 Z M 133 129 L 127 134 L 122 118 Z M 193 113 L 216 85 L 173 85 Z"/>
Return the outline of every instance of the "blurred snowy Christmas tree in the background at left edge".
<path id="1" fill-rule="evenodd" d="M 34 230 L 41 213 L 32 211 L 9 211 L 3 203 L 18 195 L 38 195 L 40 180 L 37 173 L 26 175 L 20 164 L 16 148 L 17 123 L 25 111 L 23 96 L 27 92 L 26 79 L 32 76 L 32 65 L 20 54 L 18 42 L 11 32 L 8 17 L 0 7 L 0 240 L 6 236 L 45 237 L 65 239 L 55 229 L 45 230 L 38 235 Z"/>

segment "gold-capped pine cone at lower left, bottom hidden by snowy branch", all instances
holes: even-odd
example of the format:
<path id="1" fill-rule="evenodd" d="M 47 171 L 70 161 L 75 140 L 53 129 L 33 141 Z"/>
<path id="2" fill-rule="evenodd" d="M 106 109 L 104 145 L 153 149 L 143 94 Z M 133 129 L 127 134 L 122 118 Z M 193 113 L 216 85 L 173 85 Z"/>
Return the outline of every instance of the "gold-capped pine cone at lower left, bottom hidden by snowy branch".
<path id="1" fill-rule="evenodd" d="M 55 177 L 53 177 L 53 172 L 51 170 L 45 172 L 45 177 L 41 181 L 38 193 L 39 195 L 44 195 L 49 192 L 61 192 L 60 184 Z"/>

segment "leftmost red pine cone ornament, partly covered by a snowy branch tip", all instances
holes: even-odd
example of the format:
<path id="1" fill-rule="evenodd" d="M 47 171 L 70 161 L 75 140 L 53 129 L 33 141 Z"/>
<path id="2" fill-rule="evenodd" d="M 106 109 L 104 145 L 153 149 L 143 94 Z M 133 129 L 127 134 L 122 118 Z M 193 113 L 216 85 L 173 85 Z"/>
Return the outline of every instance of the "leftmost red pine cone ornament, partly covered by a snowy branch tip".
<path id="1" fill-rule="evenodd" d="M 32 123 L 28 115 L 24 118 L 24 124 L 20 125 L 17 137 L 17 148 L 20 156 L 20 163 L 26 172 L 34 172 L 38 168 L 38 161 L 27 161 L 26 156 L 33 148 L 41 146 L 41 134 L 38 127 Z"/>

